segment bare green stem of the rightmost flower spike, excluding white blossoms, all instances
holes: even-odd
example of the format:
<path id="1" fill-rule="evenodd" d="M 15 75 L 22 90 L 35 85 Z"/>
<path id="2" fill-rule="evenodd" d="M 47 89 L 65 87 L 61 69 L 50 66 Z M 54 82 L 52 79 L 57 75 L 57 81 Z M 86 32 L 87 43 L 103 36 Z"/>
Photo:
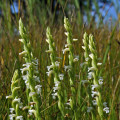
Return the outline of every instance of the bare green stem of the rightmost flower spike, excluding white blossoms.
<path id="1" fill-rule="evenodd" d="M 99 79 L 98 79 L 98 67 L 97 67 L 97 61 L 98 61 L 98 58 L 97 58 L 97 50 L 96 50 L 96 47 L 95 47 L 95 43 L 94 43 L 94 40 L 93 40 L 93 35 L 89 35 L 89 49 L 91 51 L 91 59 L 92 59 L 92 69 L 93 69 L 93 84 L 94 85 L 98 85 L 98 87 L 96 88 L 97 92 L 98 92 L 98 95 L 96 96 L 96 102 L 97 102 L 97 105 L 98 105 L 98 113 L 99 113 L 99 116 L 101 118 L 101 120 L 103 120 L 103 103 L 102 103 L 102 96 L 101 96 L 101 91 L 100 91 L 100 85 L 99 85 Z"/>

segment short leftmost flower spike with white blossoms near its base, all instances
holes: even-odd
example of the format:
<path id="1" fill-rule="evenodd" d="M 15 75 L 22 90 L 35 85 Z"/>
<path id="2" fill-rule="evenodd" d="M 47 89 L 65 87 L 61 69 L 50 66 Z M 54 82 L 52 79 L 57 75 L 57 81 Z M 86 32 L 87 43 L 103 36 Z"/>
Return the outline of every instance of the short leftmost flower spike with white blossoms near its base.
<path id="1" fill-rule="evenodd" d="M 12 108 L 10 108 L 10 120 L 13 120 L 14 118 L 16 120 L 23 120 L 22 113 L 20 112 L 23 104 L 21 102 L 21 98 L 19 98 L 18 91 L 20 90 L 19 82 L 20 82 L 18 70 L 15 70 L 12 82 L 11 82 L 11 91 L 12 94 L 10 96 L 6 96 L 8 99 L 12 99 Z"/>

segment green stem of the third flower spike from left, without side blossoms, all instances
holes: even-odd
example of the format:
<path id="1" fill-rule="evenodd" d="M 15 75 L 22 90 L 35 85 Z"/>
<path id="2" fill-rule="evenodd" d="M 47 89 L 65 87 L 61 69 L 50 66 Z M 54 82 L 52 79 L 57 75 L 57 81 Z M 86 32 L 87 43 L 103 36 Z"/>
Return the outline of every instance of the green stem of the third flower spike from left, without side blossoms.
<path id="1" fill-rule="evenodd" d="M 50 59 L 51 59 L 51 63 L 52 63 L 51 71 L 54 73 L 54 83 L 55 83 L 55 85 L 56 85 L 56 83 L 58 83 L 58 89 L 57 89 L 58 108 L 62 114 L 61 119 L 64 119 L 64 115 L 65 115 L 64 94 L 63 94 L 63 90 L 61 88 L 62 81 L 60 81 L 60 79 L 59 79 L 59 72 L 58 72 L 59 65 L 57 65 L 57 61 L 56 61 L 55 43 L 53 41 L 53 38 L 52 38 L 52 35 L 50 32 L 50 28 L 47 28 L 46 36 L 47 36 L 46 42 L 49 44 L 49 50 L 47 52 L 50 52 Z M 49 71 L 49 72 L 51 72 L 51 71 Z"/>

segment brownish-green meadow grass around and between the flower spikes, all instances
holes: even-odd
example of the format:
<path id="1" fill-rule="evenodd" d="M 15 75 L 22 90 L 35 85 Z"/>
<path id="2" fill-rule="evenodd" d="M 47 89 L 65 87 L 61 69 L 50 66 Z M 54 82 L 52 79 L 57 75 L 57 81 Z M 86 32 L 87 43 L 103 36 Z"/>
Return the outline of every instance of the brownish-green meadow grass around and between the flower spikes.
<path id="1" fill-rule="evenodd" d="M 4 3 L 6 5 L 6 3 Z M 3 8 L 5 8 L 3 6 Z M 9 12 L 9 7 L 4 9 L 5 17 L 4 21 L 0 21 L 0 119 L 6 120 L 9 117 L 9 108 L 11 107 L 11 100 L 6 99 L 6 96 L 11 94 L 11 80 L 16 69 L 20 70 L 22 65 L 25 63 L 22 56 L 19 53 L 23 50 L 23 45 L 20 43 L 19 39 L 21 36 L 18 32 L 14 32 L 14 28 L 18 29 L 19 16 L 12 18 Z M 43 9 L 44 10 L 44 9 Z M 28 13 L 30 11 L 28 10 Z M 40 11 L 38 10 L 38 13 Z M 46 12 L 46 11 L 45 11 Z M 43 12 L 44 13 L 44 12 Z M 37 13 L 36 13 L 37 14 Z M 41 116 L 42 119 L 60 119 L 61 111 L 57 107 L 58 99 L 53 100 L 51 97 L 51 91 L 54 87 L 54 76 L 47 76 L 47 66 L 51 64 L 50 56 L 46 53 L 48 50 L 48 44 L 46 43 L 46 29 L 50 26 L 53 39 L 55 41 L 55 48 L 57 52 L 57 57 L 60 62 L 59 72 L 64 74 L 63 89 L 67 91 L 67 100 L 72 96 L 69 75 L 64 71 L 64 65 L 69 64 L 68 53 L 63 54 L 63 49 L 65 48 L 66 31 L 63 25 L 63 19 L 61 17 L 58 19 L 59 24 L 55 23 L 51 25 L 53 17 L 50 17 L 48 21 L 44 21 L 41 18 L 36 18 L 34 14 L 30 14 L 26 18 L 22 16 L 23 23 L 27 29 L 28 37 L 32 46 L 32 51 L 34 58 L 38 59 L 38 76 L 42 84 L 42 104 L 41 104 Z M 45 14 L 42 15 L 42 17 Z M 47 16 L 47 15 L 46 15 Z M 45 17 L 46 17 L 45 16 Z M 30 19 L 29 19 L 29 18 Z M 34 22 L 33 22 L 34 21 Z M 53 20 L 54 21 L 54 20 Z M 52 21 L 52 22 L 53 22 Z M 87 107 L 89 106 L 88 96 L 87 96 L 87 84 L 81 84 L 82 80 L 86 79 L 87 70 L 82 68 L 81 64 L 85 62 L 83 46 L 83 35 L 84 33 L 92 34 L 94 36 L 95 45 L 97 48 L 97 54 L 99 62 L 102 66 L 99 67 L 99 74 L 103 77 L 103 85 L 101 89 L 102 100 L 107 102 L 107 106 L 110 111 L 108 114 L 104 113 L 104 119 L 107 120 L 119 120 L 120 119 L 120 31 L 119 31 L 119 20 L 116 25 L 100 25 L 96 27 L 95 22 L 86 24 L 78 24 L 78 19 L 74 16 L 70 18 L 70 23 L 73 31 L 73 38 L 77 38 L 74 44 L 72 44 L 74 49 L 74 55 L 79 56 L 78 62 L 75 64 L 74 72 L 78 77 L 75 78 L 75 88 L 78 90 L 78 96 L 76 95 L 77 112 L 81 120 L 91 120 L 91 114 L 87 113 Z M 43 24 L 41 25 L 41 23 Z M 21 74 L 20 74 L 21 76 Z M 26 105 L 26 87 L 24 81 L 20 82 L 21 90 L 19 96 L 22 98 L 22 102 Z M 80 87 L 79 87 L 80 86 Z M 49 104 L 48 104 L 49 103 Z M 99 115 L 97 108 L 95 107 L 95 116 L 99 120 Z M 23 112 L 24 116 L 27 112 Z M 73 113 L 71 111 L 65 111 L 64 119 L 71 120 Z M 25 119 L 27 119 L 25 117 Z M 35 118 L 33 118 L 35 119 Z"/>

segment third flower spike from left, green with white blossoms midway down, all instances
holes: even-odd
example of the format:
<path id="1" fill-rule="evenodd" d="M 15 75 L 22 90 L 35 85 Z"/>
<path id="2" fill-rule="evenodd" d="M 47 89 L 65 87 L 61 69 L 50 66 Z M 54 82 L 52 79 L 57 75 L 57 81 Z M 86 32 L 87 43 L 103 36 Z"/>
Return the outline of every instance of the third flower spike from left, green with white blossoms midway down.
<path id="1" fill-rule="evenodd" d="M 53 99 L 56 99 L 58 97 L 58 108 L 62 114 L 61 119 L 64 119 L 65 116 L 65 108 L 64 108 L 64 91 L 62 90 L 62 80 L 64 75 L 59 73 L 58 67 L 59 67 L 59 62 L 56 61 L 56 50 L 55 50 L 55 43 L 53 41 L 50 28 L 48 27 L 46 30 L 46 42 L 49 44 L 49 50 L 46 52 L 50 53 L 50 60 L 51 60 L 51 65 L 47 66 L 48 72 L 47 75 L 49 76 L 50 74 L 54 74 L 54 84 L 55 86 L 53 87 L 53 93 L 52 97 Z"/>

